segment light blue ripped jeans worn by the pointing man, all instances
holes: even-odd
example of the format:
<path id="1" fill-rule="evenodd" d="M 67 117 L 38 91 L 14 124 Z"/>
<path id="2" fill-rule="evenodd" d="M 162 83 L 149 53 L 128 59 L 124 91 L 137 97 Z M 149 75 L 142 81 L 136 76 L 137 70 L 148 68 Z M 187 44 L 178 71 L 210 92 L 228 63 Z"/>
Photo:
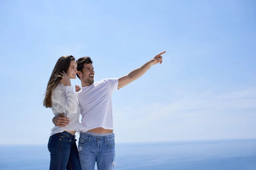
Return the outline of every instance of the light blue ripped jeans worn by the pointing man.
<path id="1" fill-rule="evenodd" d="M 80 133 L 79 159 L 82 170 L 113 170 L 115 165 L 115 137 L 113 133 Z"/>

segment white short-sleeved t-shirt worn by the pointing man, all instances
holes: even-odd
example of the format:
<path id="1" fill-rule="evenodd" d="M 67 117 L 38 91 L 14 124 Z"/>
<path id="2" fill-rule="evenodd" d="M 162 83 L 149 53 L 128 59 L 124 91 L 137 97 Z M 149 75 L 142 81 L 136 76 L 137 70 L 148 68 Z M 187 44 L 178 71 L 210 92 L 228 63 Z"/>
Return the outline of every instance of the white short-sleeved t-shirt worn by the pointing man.
<path id="1" fill-rule="evenodd" d="M 113 130 L 112 93 L 117 89 L 118 78 L 114 78 L 94 82 L 77 92 L 81 124 L 86 127 L 81 132 L 96 127 Z"/>

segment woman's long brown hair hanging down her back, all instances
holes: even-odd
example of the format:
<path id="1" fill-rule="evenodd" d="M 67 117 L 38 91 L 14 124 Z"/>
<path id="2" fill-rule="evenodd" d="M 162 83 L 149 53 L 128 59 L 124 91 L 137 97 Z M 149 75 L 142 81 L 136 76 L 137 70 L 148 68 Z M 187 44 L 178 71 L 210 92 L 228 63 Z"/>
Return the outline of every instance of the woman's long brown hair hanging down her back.
<path id="1" fill-rule="evenodd" d="M 56 62 L 52 74 L 49 78 L 47 88 L 45 91 L 45 97 L 43 105 L 46 108 L 52 107 L 52 91 L 56 88 L 58 83 L 61 81 L 61 72 L 64 71 L 67 73 L 67 70 L 70 66 L 70 62 L 75 60 L 73 56 L 61 56 L 58 61 Z"/>

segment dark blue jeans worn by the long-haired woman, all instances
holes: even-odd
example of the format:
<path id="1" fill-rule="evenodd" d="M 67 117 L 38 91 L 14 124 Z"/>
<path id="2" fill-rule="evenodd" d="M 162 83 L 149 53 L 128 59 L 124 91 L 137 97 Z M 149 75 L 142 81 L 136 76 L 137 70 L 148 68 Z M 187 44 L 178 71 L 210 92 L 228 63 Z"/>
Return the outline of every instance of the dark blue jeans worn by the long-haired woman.
<path id="1" fill-rule="evenodd" d="M 50 170 L 81 170 L 75 137 L 65 131 L 50 136 Z"/>

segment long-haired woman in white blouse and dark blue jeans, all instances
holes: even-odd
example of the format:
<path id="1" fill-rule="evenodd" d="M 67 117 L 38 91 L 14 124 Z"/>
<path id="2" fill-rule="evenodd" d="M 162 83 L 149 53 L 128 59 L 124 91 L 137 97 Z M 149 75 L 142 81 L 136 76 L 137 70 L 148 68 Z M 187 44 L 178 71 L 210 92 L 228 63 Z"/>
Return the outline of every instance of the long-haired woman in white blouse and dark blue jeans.
<path id="1" fill-rule="evenodd" d="M 51 129 L 48 142 L 50 170 L 81 170 L 76 147 L 76 130 L 84 128 L 79 123 L 79 104 L 70 79 L 76 79 L 77 64 L 73 56 L 58 59 L 47 84 L 44 107 L 52 108 L 55 116 L 64 113 L 70 122 L 65 127 Z"/>

